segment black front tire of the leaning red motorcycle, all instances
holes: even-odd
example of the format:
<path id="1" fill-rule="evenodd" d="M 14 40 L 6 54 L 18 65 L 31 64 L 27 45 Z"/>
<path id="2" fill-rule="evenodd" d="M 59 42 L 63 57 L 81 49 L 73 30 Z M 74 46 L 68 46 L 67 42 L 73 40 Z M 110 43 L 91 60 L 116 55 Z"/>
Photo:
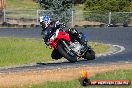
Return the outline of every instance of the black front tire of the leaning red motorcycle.
<path id="1" fill-rule="evenodd" d="M 68 61 L 70 61 L 71 63 L 75 63 L 77 61 L 77 57 L 76 55 L 70 55 L 67 53 L 67 51 L 64 49 L 65 46 L 63 46 L 62 44 L 58 44 L 57 49 L 60 52 L 60 54 L 66 58 Z"/>

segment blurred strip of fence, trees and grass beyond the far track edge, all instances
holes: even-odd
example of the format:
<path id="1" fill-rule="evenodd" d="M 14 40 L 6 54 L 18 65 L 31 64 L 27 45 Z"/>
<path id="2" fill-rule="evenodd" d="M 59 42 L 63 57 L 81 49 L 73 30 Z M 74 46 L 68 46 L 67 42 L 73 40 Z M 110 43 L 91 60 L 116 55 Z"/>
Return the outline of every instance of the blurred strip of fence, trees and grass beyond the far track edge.
<path id="1" fill-rule="evenodd" d="M 0 27 L 38 27 L 50 15 L 69 27 L 131 27 L 131 0 L 0 0 Z"/>

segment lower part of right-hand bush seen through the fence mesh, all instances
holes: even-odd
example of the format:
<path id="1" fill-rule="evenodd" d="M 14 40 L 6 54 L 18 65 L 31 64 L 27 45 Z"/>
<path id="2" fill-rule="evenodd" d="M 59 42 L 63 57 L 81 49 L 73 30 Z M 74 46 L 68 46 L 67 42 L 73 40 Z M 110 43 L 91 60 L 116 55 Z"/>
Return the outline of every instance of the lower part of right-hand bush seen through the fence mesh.
<path id="1" fill-rule="evenodd" d="M 108 23 L 109 12 L 84 12 L 83 13 L 85 20 L 88 21 L 97 21 L 102 23 Z M 132 17 L 131 13 L 123 12 L 112 12 L 111 14 L 111 23 L 125 23 L 128 22 Z"/>

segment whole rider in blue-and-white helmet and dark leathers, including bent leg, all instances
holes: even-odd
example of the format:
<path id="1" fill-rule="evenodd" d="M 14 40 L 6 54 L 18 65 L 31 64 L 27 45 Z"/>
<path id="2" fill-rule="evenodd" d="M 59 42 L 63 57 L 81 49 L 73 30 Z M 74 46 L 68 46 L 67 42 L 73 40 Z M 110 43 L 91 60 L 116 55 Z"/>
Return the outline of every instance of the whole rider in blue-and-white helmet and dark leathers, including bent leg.
<path id="1" fill-rule="evenodd" d="M 49 45 L 48 39 L 53 35 L 56 29 L 60 28 L 62 23 L 59 21 L 51 21 L 50 17 L 45 15 L 40 17 L 40 25 L 43 28 L 41 34 L 43 35 L 44 42 L 46 45 Z M 67 32 L 70 34 L 71 39 L 73 38 L 72 40 L 76 38 L 79 42 L 81 42 L 79 33 L 76 29 L 70 28 Z"/>

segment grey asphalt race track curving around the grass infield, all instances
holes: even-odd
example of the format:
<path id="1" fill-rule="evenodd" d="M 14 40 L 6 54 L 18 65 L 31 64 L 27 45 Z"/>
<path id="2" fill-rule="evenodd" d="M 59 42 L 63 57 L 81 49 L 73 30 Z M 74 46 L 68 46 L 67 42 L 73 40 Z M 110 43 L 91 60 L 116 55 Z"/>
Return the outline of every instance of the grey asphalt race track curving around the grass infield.
<path id="1" fill-rule="evenodd" d="M 125 47 L 125 51 L 118 54 L 97 57 L 92 61 L 78 61 L 76 63 L 65 62 L 42 62 L 30 65 L 23 65 L 11 68 L 0 68 L 0 72 L 14 72 L 37 69 L 59 69 L 72 68 L 81 65 L 109 64 L 109 63 L 129 63 L 132 62 L 132 27 L 115 27 L 115 28 L 78 28 L 87 34 L 90 41 L 103 42 Z M 25 38 L 42 38 L 41 28 L 0 28 L 0 37 L 25 37 Z"/>

